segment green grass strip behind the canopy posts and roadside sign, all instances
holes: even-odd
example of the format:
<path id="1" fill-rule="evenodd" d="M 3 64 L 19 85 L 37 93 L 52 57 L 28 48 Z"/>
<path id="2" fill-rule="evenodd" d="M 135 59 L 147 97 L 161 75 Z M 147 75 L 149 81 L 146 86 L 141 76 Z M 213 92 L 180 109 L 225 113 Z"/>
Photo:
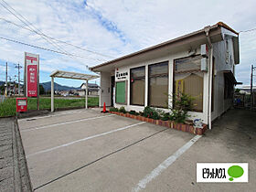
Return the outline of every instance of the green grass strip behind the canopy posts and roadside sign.
<path id="1" fill-rule="evenodd" d="M 69 107 L 84 107 L 85 99 L 54 99 L 55 109 L 60 108 L 69 108 Z M 98 106 L 99 98 L 98 97 L 89 97 L 88 106 Z M 40 110 L 50 109 L 50 98 L 40 98 L 39 99 L 39 108 Z M 27 110 L 37 110 L 37 99 L 28 98 L 27 99 Z M 14 116 L 16 115 L 16 98 L 8 98 L 4 102 L 0 103 L 0 117 L 5 116 Z"/>

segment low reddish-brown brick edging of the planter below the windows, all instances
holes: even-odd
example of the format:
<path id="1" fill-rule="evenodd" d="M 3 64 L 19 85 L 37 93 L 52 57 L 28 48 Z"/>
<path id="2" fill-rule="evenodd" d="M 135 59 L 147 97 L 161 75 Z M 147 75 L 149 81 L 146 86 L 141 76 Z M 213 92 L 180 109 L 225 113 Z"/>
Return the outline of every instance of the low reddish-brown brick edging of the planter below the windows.
<path id="1" fill-rule="evenodd" d="M 133 115 L 130 113 L 123 113 L 123 112 L 111 112 L 113 114 L 117 114 L 123 117 L 129 117 L 135 120 L 139 120 L 139 121 L 143 121 L 143 122 L 147 122 L 147 123 L 154 123 L 154 124 L 158 124 L 161 126 L 165 126 L 165 127 L 170 127 L 173 129 L 177 129 L 180 130 L 182 132 L 188 132 L 188 133 L 193 133 L 193 134 L 199 134 L 202 135 L 203 133 L 205 133 L 208 129 L 208 125 L 207 124 L 203 124 L 203 128 L 195 128 L 193 125 L 190 124 L 184 124 L 184 123 L 175 123 L 175 122 L 171 122 L 171 121 L 163 121 L 163 120 L 154 120 L 151 118 L 147 118 L 144 116 L 140 116 L 140 115 Z"/>

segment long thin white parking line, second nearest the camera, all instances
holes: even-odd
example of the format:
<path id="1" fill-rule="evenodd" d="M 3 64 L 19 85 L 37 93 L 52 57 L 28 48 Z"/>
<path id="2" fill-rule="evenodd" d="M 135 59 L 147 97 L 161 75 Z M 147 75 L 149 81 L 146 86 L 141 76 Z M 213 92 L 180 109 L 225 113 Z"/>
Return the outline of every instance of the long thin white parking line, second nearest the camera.
<path id="1" fill-rule="evenodd" d="M 46 153 L 46 152 L 50 152 L 50 151 L 53 151 L 55 149 L 59 149 L 59 148 L 64 147 L 64 146 L 69 146 L 70 144 L 76 144 L 76 143 L 79 143 L 79 142 L 84 142 L 84 141 L 87 141 L 87 140 L 90 140 L 90 139 L 93 139 L 93 138 L 96 138 L 96 137 L 100 137 L 100 136 L 103 136 L 103 135 L 106 135 L 106 134 L 123 131 L 125 129 L 131 128 L 133 126 L 143 124 L 143 123 L 145 123 L 145 122 L 131 124 L 131 125 L 128 125 L 128 126 L 125 126 L 125 127 L 122 127 L 122 128 L 118 128 L 118 129 L 115 129 L 115 130 L 112 130 L 112 131 L 109 131 L 109 132 L 105 132 L 105 133 L 94 134 L 94 135 L 91 135 L 89 137 L 85 137 L 85 138 L 82 138 L 82 139 L 79 139 L 79 140 L 76 140 L 76 141 L 73 141 L 73 142 L 69 142 L 67 144 L 61 144 L 59 146 L 55 146 L 55 147 L 52 147 L 52 148 L 49 148 L 49 149 L 38 151 L 34 154 L 27 155 L 27 157 L 38 155 L 38 154 L 43 154 L 43 153 Z"/>

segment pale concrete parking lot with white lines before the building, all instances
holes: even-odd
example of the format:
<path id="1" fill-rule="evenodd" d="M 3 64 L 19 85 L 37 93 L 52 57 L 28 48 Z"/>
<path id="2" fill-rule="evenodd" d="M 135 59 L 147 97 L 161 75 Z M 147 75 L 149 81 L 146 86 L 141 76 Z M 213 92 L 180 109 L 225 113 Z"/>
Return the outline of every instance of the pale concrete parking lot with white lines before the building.
<path id="1" fill-rule="evenodd" d="M 248 184 L 197 184 L 197 162 L 249 162 L 255 178 L 252 144 L 234 154 L 225 144 L 233 133 L 219 129 L 199 137 L 151 123 L 95 110 L 54 112 L 18 121 L 27 165 L 36 191 L 204 191 L 247 190 Z M 221 121 L 220 123 L 221 124 Z M 219 126 L 219 125 L 218 125 Z M 223 130 L 222 130 L 223 132 Z M 227 130 L 225 129 L 225 132 Z M 232 141 L 230 138 L 229 141 Z M 237 139 L 237 138 L 234 138 Z M 231 149 L 231 150 L 229 150 Z"/>

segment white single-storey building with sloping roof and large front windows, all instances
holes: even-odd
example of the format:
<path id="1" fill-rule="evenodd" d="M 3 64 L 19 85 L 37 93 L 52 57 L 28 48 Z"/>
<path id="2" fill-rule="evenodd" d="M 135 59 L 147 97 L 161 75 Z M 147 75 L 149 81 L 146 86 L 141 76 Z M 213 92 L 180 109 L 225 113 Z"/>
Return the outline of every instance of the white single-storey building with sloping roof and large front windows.
<path id="1" fill-rule="evenodd" d="M 232 105 L 239 62 L 238 33 L 219 22 L 91 70 L 101 73 L 100 106 L 172 108 L 168 95 L 183 91 L 196 98 L 191 119 L 209 123 Z"/>

